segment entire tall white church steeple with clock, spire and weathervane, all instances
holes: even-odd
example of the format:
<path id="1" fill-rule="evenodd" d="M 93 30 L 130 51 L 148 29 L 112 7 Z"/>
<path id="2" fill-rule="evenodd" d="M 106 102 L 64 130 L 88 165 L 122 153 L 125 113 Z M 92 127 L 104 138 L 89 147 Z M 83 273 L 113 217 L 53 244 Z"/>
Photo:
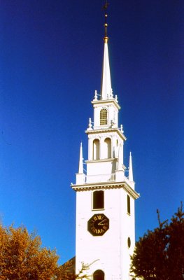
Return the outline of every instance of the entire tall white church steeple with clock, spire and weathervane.
<path id="1" fill-rule="evenodd" d="M 83 169 L 80 144 L 76 184 L 71 185 L 76 190 L 76 273 L 83 262 L 91 264 L 87 274 L 92 280 L 129 280 L 135 243 L 134 200 L 139 195 L 134 190 L 131 153 L 129 176 L 125 176 L 126 137 L 122 125 L 118 125 L 120 105 L 111 88 L 107 26 L 105 22 L 101 94 L 98 99 L 97 91 L 94 93 L 94 122 L 90 118 L 85 131 L 87 171 Z"/>

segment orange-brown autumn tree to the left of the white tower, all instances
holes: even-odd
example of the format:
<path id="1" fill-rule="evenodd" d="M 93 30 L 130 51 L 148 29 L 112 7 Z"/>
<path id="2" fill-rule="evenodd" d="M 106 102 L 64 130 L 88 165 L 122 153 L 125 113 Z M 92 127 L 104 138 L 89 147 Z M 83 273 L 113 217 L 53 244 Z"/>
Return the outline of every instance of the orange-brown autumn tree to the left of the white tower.
<path id="1" fill-rule="evenodd" d="M 25 228 L 3 228 L 0 225 L 0 279 L 55 279 L 58 256 L 41 248 L 41 238 Z"/>

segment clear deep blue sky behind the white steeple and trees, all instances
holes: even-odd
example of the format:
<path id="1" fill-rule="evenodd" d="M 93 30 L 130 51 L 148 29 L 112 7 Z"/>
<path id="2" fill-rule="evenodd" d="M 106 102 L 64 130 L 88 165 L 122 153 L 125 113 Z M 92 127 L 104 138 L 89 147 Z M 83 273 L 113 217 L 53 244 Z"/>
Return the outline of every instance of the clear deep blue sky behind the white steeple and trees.
<path id="1" fill-rule="evenodd" d="M 110 0 L 109 0 L 110 1 Z M 0 214 L 36 230 L 60 262 L 75 255 L 80 141 L 100 90 L 103 0 L 1 0 Z M 133 155 L 136 239 L 184 197 L 184 1 L 117 0 L 108 9 L 113 92 L 125 165 Z"/>

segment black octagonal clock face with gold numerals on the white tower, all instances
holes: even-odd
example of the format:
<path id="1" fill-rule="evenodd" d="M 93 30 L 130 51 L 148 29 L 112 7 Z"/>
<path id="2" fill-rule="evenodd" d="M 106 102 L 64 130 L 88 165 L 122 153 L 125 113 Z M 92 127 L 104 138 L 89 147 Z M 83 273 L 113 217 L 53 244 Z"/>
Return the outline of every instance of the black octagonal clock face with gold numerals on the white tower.
<path id="1" fill-rule="evenodd" d="M 87 222 L 87 230 L 94 236 L 101 236 L 109 229 L 109 219 L 104 214 L 94 214 Z"/>

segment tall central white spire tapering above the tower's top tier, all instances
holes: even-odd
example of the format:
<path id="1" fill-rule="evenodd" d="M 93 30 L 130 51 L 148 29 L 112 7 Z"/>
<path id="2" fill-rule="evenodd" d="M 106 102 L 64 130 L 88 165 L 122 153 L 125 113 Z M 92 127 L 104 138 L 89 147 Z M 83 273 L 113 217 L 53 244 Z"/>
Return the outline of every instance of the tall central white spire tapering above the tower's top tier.
<path id="1" fill-rule="evenodd" d="M 101 99 L 109 99 L 112 95 L 111 72 L 108 59 L 108 37 L 104 37 L 104 62 L 101 77 Z"/>

